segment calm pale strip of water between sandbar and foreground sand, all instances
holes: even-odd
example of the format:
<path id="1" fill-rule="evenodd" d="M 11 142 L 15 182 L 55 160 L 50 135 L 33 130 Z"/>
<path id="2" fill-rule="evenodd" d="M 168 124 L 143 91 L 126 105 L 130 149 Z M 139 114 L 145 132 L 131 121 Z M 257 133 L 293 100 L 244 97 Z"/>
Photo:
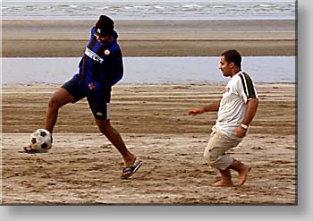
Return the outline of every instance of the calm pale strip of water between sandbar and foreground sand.
<path id="1" fill-rule="evenodd" d="M 123 57 L 123 83 L 224 82 L 220 57 Z M 63 83 L 78 72 L 80 57 L 2 58 L 2 83 Z M 242 70 L 255 82 L 295 82 L 295 56 L 244 56 Z"/>

